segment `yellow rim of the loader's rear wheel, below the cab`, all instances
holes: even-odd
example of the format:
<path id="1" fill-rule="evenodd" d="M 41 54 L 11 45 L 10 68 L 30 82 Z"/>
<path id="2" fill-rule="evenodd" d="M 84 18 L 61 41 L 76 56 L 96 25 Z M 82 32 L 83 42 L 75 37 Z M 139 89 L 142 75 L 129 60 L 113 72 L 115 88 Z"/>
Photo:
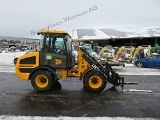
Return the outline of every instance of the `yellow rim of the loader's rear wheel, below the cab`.
<path id="1" fill-rule="evenodd" d="M 48 85 L 48 78 L 45 75 L 39 75 L 35 79 L 36 85 L 39 88 L 45 88 Z"/>

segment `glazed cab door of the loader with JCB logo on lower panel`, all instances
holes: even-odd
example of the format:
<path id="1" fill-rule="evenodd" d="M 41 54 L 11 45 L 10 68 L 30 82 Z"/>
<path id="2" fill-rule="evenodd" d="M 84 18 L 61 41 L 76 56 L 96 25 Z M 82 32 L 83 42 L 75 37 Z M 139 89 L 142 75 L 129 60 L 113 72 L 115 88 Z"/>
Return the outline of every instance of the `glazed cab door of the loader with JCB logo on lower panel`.
<path id="1" fill-rule="evenodd" d="M 66 68 L 66 46 L 63 34 L 48 34 L 44 40 L 43 65 Z"/>

